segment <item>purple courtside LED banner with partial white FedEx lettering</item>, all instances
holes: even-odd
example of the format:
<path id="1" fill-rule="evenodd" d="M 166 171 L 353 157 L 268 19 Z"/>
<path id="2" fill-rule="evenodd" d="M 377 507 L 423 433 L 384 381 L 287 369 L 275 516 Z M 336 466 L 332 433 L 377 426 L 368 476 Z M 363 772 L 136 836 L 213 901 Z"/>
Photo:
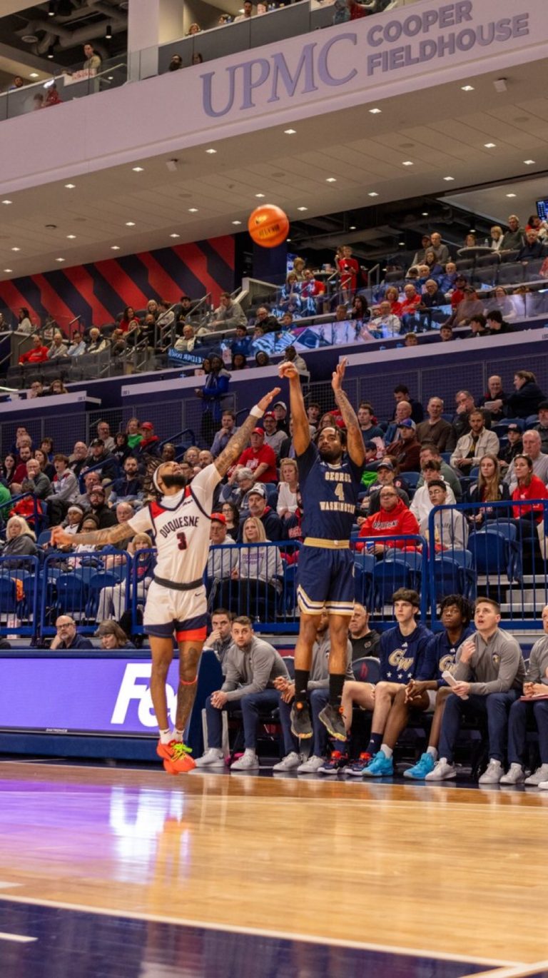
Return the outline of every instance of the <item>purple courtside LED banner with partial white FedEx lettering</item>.
<path id="1" fill-rule="evenodd" d="M 0 730 L 123 733 L 157 737 L 150 662 L 112 658 L 2 657 Z M 179 662 L 166 684 L 175 723 Z"/>

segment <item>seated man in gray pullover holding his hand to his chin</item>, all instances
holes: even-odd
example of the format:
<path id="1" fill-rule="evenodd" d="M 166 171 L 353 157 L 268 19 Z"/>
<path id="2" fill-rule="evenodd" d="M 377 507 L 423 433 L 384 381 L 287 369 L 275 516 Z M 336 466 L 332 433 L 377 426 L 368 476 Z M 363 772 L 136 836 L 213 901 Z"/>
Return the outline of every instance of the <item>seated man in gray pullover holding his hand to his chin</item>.
<path id="1" fill-rule="evenodd" d="M 522 649 L 513 636 L 502 632 L 500 605 L 490 598 L 479 598 L 474 624 L 476 635 L 464 642 L 451 669 L 452 693 L 447 696 L 440 737 L 440 760 L 427 781 L 455 778 L 453 750 L 463 717 L 486 718 L 489 763 L 481 784 L 498 784 L 504 774 L 508 714 L 522 695 L 526 666 Z"/>

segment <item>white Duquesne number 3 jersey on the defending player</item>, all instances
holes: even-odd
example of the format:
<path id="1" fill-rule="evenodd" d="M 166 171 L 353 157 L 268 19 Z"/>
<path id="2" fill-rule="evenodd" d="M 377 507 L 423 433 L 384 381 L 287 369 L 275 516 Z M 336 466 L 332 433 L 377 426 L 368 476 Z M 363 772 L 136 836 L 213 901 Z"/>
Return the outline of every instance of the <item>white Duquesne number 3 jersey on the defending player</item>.
<path id="1" fill-rule="evenodd" d="M 157 548 L 154 576 L 176 584 L 200 580 L 209 553 L 213 492 L 221 481 L 214 465 L 202 468 L 176 496 L 162 496 L 128 519 L 136 533 L 151 533 Z"/>

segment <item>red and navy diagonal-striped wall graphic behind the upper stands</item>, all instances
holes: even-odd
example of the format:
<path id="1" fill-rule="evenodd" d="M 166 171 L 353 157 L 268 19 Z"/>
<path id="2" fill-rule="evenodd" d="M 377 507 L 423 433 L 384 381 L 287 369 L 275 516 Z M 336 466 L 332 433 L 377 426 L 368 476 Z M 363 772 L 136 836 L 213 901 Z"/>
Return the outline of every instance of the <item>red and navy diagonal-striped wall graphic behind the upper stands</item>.
<path id="1" fill-rule="evenodd" d="M 81 316 L 86 327 L 111 323 L 125 306 L 144 309 L 148 299 L 177 302 L 234 288 L 234 240 L 176 244 L 43 275 L 0 282 L 0 307 L 16 313 L 26 306 L 33 323 L 48 315 L 60 325 Z"/>

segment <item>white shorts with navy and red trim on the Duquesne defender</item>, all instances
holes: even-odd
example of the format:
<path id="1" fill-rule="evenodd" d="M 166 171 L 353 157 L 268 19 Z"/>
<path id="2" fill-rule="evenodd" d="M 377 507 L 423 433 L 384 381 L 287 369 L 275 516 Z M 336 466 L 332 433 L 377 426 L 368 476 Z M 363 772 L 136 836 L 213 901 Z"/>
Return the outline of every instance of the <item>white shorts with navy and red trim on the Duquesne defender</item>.
<path id="1" fill-rule="evenodd" d="M 178 642 L 199 642 L 206 636 L 207 600 L 205 588 L 176 591 L 152 581 L 148 588 L 143 624 L 147 635 Z"/>

